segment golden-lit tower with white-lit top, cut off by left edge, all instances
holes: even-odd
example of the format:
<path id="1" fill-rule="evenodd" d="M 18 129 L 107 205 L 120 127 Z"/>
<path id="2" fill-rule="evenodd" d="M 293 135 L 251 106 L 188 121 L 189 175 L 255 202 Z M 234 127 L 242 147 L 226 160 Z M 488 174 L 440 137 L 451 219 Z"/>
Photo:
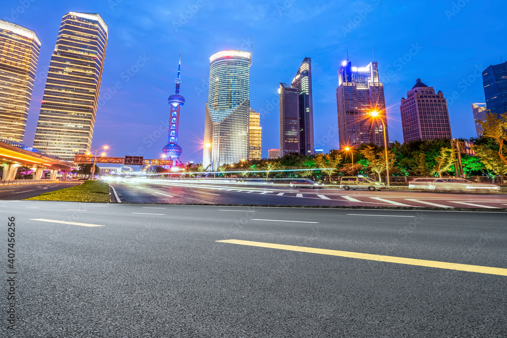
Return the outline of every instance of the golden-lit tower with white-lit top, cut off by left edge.
<path id="1" fill-rule="evenodd" d="M 40 51 L 37 34 L 0 20 L 0 138 L 23 142 Z"/>

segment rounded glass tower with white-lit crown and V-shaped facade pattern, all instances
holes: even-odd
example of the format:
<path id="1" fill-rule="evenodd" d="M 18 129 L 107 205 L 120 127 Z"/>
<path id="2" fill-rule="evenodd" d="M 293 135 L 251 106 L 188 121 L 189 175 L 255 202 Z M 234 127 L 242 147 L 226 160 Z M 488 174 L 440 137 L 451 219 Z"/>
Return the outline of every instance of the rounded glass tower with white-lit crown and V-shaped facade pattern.
<path id="1" fill-rule="evenodd" d="M 209 58 L 202 163 L 212 170 L 248 158 L 251 53 L 228 50 Z"/>

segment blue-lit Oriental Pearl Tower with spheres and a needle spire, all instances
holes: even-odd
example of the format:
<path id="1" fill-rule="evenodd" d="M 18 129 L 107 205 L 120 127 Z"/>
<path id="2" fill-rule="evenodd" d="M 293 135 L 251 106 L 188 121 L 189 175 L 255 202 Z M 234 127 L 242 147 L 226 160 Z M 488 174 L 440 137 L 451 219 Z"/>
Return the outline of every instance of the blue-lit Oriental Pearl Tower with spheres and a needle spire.
<path id="1" fill-rule="evenodd" d="M 179 84 L 182 83 L 179 80 L 180 69 L 182 67 L 182 53 L 179 53 L 179 65 L 178 65 L 178 78 L 176 79 L 176 92 L 169 96 L 169 106 L 171 107 L 171 118 L 169 124 L 169 137 L 166 146 L 162 149 L 164 157 L 170 159 L 172 165 L 182 166 L 183 163 L 179 160 L 182 155 L 183 149 L 178 145 L 178 123 L 179 123 L 179 107 L 185 104 L 185 98 L 179 94 Z"/>

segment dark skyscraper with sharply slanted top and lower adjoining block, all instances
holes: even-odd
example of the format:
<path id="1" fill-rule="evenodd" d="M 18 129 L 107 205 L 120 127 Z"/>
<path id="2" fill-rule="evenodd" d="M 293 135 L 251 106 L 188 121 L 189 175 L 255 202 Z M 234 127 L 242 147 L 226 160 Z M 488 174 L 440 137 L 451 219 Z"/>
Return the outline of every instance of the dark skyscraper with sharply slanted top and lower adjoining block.
<path id="1" fill-rule="evenodd" d="M 313 155 L 313 99 L 311 59 L 305 57 L 291 85 L 279 84 L 280 156 Z M 295 137 L 294 133 L 298 135 Z"/>

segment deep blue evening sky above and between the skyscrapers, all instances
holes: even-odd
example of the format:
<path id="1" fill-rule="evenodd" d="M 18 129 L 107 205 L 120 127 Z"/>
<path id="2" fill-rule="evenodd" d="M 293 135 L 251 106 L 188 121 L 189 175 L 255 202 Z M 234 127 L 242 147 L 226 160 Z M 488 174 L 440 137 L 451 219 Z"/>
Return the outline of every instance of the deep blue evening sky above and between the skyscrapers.
<path id="1" fill-rule="evenodd" d="M 400 99 L 417 78 L 448 98 L 454 137 L 476 136 L 471 104 L 484 102 L 480 72 L 500 63 L 500 57 L 507 59 L 504 2 L 492 7 L 478 0 L 424 6 L 395 0 L 4 0 L 0 18 L 34 30 L 42 41 L 24 139 L 28 145 L 61 17 L 70 11 L 99 13 L 109 26 L 92 146 L 108 144 L 108 155 L 118 157 L 160 157 L 180 51 L 186 104 L 178 143 L 184 162 L 202 161 L 209 56 L 221 50 L 249 50 L 253 42 L 250 104 L 263 112 L 264 157 L 268 148 L 279 146 L 278 83 L 291 81 L 304 57 L 313 63 L 315 143 L 324 149 L 338 146 L 337 74 L 346 48 L 354 66 L 372 61 L 375 49 L 389 107 L 390 140 L 400 141 Z M 138 60 L 143 66 L 126 81 L 124 71 Z M 116 82 L 122 88 L 105 95 Z"/>

